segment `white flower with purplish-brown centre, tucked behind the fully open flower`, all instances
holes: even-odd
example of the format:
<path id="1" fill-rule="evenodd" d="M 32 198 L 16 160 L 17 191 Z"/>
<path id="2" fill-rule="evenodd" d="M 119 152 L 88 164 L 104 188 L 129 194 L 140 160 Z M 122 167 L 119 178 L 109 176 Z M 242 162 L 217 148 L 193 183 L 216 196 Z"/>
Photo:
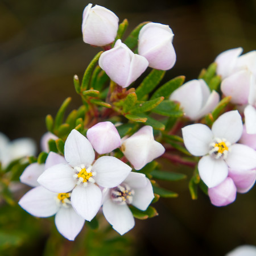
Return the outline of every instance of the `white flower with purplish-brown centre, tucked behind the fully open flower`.
<path id="1" fill-rule="evenodd" d="M 117 187 L 105 192 L 102 210 L 106 220 L 119 234 L 123 235 L 134 227 L 135 221 L 128 205 L 146 210 L 154 199 L 150 180 L 144 174 L 130 172 Z"/>

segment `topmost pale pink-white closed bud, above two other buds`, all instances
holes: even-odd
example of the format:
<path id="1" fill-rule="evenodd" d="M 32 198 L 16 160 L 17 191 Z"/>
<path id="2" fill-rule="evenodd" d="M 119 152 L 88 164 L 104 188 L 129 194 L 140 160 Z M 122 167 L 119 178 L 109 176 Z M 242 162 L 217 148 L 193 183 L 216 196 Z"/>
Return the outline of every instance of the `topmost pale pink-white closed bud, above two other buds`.
<path id="1" fill-rule="evenodd" d="M 118 17 L 105 7 L 89 3 L 82 14 L 82 38 L 93 46 L 106 46 L 114 42 L 118 30 Z"/>

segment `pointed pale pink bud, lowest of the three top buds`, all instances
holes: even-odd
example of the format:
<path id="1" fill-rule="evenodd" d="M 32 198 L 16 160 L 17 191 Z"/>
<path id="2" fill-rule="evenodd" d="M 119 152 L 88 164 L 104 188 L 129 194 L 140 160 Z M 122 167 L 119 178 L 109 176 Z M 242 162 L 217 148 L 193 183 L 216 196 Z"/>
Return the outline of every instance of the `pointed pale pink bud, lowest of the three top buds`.
<path id="1" fill-rule="evenodd" d="M 110 79 L 123 88 L 138 79 L 148 67 L 147 59 L 134 54 L 120 39 L 112 49 L 101 54 L 98 63 Z"/>

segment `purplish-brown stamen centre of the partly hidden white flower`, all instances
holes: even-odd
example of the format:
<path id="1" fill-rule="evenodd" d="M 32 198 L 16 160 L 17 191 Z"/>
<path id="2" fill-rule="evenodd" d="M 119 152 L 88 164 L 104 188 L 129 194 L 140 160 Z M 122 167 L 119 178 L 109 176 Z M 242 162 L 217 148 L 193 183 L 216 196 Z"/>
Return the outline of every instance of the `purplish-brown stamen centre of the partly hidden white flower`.
<path id="1" fill-rule="evenodd" d="M 134 190 L 127 184 L 121 184 L 112 188 L 110 194 L 112 200 L 117 204 L 131 204 L 133 202 Z"/>

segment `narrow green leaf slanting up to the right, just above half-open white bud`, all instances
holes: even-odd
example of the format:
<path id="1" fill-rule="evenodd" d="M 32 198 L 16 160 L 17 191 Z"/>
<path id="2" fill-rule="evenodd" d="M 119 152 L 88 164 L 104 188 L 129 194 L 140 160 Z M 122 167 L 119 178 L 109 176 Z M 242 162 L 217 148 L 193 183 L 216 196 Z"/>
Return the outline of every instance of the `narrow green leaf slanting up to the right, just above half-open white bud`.
<path id="1" fill-rule="evenodd" d="M 151 100 L 160 96 L 163 96 L 166 100 L 170 97 L 171 93 L 174 92 L 180 85 L 185 81 L 185 76 L 177 76 L 174 79 L 166 82 L 159 89 L 157 89 L 151 97 Z"/>

